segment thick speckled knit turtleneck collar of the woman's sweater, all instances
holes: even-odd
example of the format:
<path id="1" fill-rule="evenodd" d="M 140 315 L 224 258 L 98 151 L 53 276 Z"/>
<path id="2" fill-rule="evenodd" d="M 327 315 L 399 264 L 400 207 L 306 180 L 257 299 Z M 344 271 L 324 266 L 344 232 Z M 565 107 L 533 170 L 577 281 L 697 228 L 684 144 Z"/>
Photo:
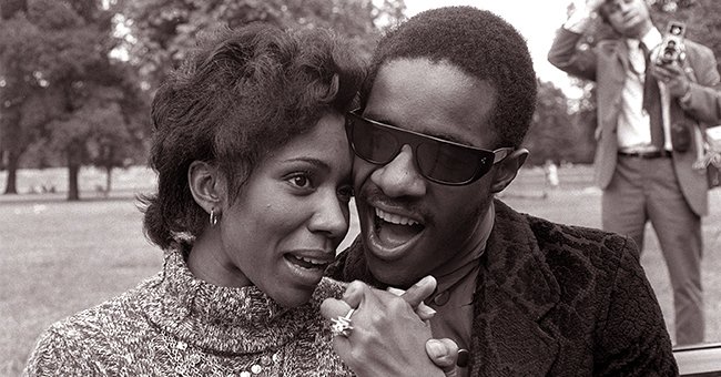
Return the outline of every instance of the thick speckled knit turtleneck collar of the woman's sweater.
<path id="1" fill-rule="evenodd" d="M 193 276 L 183 254 L 165 253 L 161 278 L 143 299 L 149 320 L 179 340 L 223 354 L 277 348 L 318 310 L 313 299 L 286 309 L 255 286 L 221 287 Z"/>

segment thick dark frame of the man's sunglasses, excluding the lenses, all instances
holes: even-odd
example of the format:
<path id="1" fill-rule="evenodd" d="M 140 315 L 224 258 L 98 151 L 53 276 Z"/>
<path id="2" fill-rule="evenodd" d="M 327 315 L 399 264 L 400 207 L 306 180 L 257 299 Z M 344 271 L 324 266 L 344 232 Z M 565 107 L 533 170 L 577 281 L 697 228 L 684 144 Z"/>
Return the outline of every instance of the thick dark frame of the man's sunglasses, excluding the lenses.
<path id="1" fill-rule="evenodd" d="M 376 160 L 373 160 L 370 156 L 363 155 L 363 154 L 358 153 L 358 150 L 356 147 L 356 143 L 355 143 L 355 140 L 354 140 L 354 129 L 355 129 L 356 121 L 366 122 L 366 123 L 369 123 L 369 124 L 372 124 L 372 125 L 374 125 L 374 126 L 376 126 L 378 129 L 382 129 L 385 132 L 388 132 L 389 134 L 392 134 L 393 137 L 398 141 L 398 149 L 396 151 L 394 151 L 394 153 L 390 155 L 389 159 L 387 159 L 387 161 L 379 161 L 379 160 L 376 161 Z M 484 150 L 484 149 L 480 149 L 480 147 L 468 146 L 468 145 L 459 144 L 459 143 L 451 142 L 451 141 L 448 141 L 448 140 L 426 135 L 426 134 L 423 134 L 423 133 L 419 133 L 419 132 L 404 130 L 404 129 L 400 129 L 400 128 L 397 128 L 397 126 L 394 126 L 394 125 L 390 125 L 390 124 L 386 124 L 386 123 L 382 123 L 382 122 L 378 122 L 378 121 L 374 121 L 372 119 L 364 118 L 363 115 L 360 115 L 360 110 L 359 109 L 356 109 L 356 110 L 353 110 L 353 111 L 348 112 L 348 115 L 346 116 L 346 134 L 347 134 L 347 137 L 348 137 L 348 142 L 351 143 L 351 147 L 353 149 L 353 152 L 358 157 L 360 157 L 364 161 L 367 161 L 367 162 L 369 162 L 372 164 L 375 164 L 375 165 L 386 165 L 386 164 L 390 163 L 393 160 L 395 160 L 398 156 L 403 145 L 408 144 L 412 147 L 413 153 L 415 155 L 415 163 L 416 163 L 416 169 L 418 170 L 418 173 L 420 173 L 420 175 L 423 175 L 426 180 L 428 180 L 430 182 L 435 182 L 435 183 L 443 184 L 443 185 L 448 185 L 448 186 L 463 186 L 463 185 L 467 185 L 467 184 L 470 184 L 470 183 L 479 180 L 481 176 L 484 176 L 486 173 L 488 173 L 495 164 L 502 161 L 512 151 L 515 151 L 514 147 L 499 147 L 499 149 L 497 149 L 495 151 L 489 151 L 489 150 Z M 471 154 L 476 155 L 477 160 L 475 161 L 476 169 L 475 169 L 474 174 L 471 176 L 469 176 L 469 177 L 467 177 L 467 179 L 465 179 L 463 181 L 458 181 L 458 182 L 439 180 L 439 179 L 436 179 L 436 177 L 434 177 L 431 175 L 426 174 L 426 172 L 424 172 L 423 169 L 420 167 L 422 165 L 420 165 L 420 161 L 419 161 L 419 157 L 418 157 L 418 146 L 420 144 L 423 144 L 423 143 L 440 144 L 440 145 L 445 145 L 445 146 L 451 146 L 454 149 L 461 149 L 461 150 L 465 150 L 466 152 L 470 152 Z M 490 164 L 485 163 L 485 161 L 487 161 L 487 160 L 491 160 L 492 163 L 490 163 Z M 469 161 L 468 163 L 474 163 L 474 162 Z"/>

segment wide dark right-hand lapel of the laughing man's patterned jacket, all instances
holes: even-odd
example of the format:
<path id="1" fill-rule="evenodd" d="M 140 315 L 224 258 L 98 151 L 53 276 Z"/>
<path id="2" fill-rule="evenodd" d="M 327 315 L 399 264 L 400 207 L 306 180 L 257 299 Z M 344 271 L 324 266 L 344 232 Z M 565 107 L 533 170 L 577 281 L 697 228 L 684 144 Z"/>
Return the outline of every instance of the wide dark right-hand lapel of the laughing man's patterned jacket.
<path id="1" fill-rule="evenodd" d="M 473 376 L 545 376 L 559 345 L 540 320 L 560 289 L 527 222 L 496 201 L 475 297 Z"/>

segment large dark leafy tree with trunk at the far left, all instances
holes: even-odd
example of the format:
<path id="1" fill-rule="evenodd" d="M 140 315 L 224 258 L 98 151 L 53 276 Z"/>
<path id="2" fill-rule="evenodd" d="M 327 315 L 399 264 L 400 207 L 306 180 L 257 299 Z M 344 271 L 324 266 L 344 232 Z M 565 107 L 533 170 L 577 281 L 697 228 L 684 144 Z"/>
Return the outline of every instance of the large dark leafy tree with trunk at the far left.
<path id="1" fill-rule="evenodd" d="M 3 96 L 10 98 L 4 104 L 12 110 L 3 116 L 4 134 L 10 135 L 3 141 L 19 145 L 11 153 L 18 159 L 32 144 L 47 146 L 41 150 L 48 156 L 62 154 L 69 169 L 68 198 L 78 200 L 81 165 L 112 169 L 122 154 L 142 149 L 148 122 L 134 114 L 146 100 L 132 71 L 109 57 L 118 45 L 111 9 L 95 0 L 27 0 L 24 8 L 16 8 L 22 11 L 3 22 L 8 34 L 0 37 L 9 83 Z"/>

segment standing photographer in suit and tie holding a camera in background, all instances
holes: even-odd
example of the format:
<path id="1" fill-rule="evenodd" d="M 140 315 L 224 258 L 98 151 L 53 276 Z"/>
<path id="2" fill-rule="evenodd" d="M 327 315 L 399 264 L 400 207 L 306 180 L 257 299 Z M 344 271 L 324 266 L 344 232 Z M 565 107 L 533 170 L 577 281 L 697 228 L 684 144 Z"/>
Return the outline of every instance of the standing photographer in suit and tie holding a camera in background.
<path id="1" fill-rule="evenodd" d="M 593 48 L 579 43 L 595 14 L 619 38 Z M 643 0 L 582 1 L 558 31 L 548 60 L 597 82 L 602 225 L 642 249 L 651 222 L 673 288 L 677 344 L 684 345 L 703 342 L 704 332 L 700 265 L 708 186 L 705 171 L 692 165 L 705 123 L 721 120 L 713 52 L 684 40 L 682 24 L 676 28 L 670 37 L 657 30 Z"/>

